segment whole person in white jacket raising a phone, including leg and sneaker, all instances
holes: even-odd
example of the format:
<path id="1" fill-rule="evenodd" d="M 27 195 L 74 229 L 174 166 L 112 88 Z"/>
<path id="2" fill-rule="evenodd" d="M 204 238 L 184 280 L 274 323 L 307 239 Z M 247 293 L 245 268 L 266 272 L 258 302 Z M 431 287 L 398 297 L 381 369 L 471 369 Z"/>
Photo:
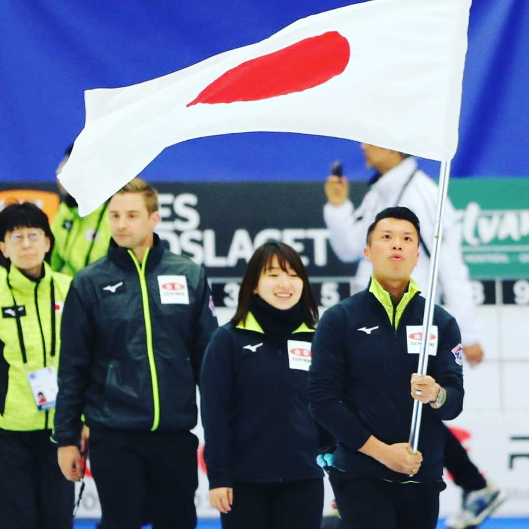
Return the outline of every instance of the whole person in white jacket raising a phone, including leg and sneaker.
<path id="1" fill-rule="evenodd" d="M 417 161 L 412 156 L 369 144 L 361 144 L 361 148 L 366 164 L 375 169 L 377 174 L 372 178 L 370 189 L 359 208 L 354 209 L 349 200 L 347 179 L 331 175 L 325 183 L 327 203 L 323 209 L 334 253 L 343 262 L 359 262 L 351 283 L 354 290 L 351 294 L 366 289 L 371 277 L 371 264 L 363 256 L 365 234 L 369 225 L 379 211 L 399 205 L 414 211 L 421 223 L 419 258 L 412 277 L 426 295 L 437 185 L 418 169 Z M 472 286 L 468 268 L 463 262 L 460 230 L 450 200 L 446 203 L 443 219 L 439 284 L 435 302 L 440 303 L 441 299 L 446 310 L 458 321 L 468 363 L 479 364 L 484 353 L 478 341 Z M 476 526 L 499 506 L 505 496 L 492 483 L 487 483 L 482 478 L 448 428 L 444 456 L 445 466 L 452 473 L 455 484 L 463 488 L 462 510 L 448 521 L 447 526 L 454 529 Z"/>

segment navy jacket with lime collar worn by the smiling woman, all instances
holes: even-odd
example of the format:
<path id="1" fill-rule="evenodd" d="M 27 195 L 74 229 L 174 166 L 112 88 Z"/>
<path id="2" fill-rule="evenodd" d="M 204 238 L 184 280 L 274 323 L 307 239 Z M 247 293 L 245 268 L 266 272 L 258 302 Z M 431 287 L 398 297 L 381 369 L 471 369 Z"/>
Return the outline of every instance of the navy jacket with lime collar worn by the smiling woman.
<path id="1" fill-rule="evenodd" d="M 305 345 L 290 342 L 291 361 L 310 362 L 313 336 L 304 324 L 294 331 L 289 340 Z M 209 488 L 323 476 L 315 463 L 323 437 L 308 410 L 308 372 L 290 369 L 289 340 L 278 347 L 249 313 L 245 327 L 226 324 L 209 342 L 200 375 Z"/>

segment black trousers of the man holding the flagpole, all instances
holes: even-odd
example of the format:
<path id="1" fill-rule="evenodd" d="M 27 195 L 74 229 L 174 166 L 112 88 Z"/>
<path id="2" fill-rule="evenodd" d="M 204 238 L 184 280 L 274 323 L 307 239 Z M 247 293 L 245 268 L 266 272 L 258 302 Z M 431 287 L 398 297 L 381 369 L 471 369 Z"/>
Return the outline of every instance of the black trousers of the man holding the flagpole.
<path id="1" fill-rule="evenodd" d="M 391 483 L 354 479 L 331 469 L 344 529 L 435 529 L 444 483 Z"/>

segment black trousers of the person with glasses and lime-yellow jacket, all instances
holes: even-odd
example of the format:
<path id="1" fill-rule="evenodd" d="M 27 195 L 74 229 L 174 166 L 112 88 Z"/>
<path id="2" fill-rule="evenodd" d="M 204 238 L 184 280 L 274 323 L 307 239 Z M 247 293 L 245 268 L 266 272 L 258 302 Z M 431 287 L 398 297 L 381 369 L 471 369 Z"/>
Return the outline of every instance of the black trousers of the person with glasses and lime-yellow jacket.
<path id="1" fill-rule="evenodd" d="M 57 463 L 50 430 L 0 429 L 0 525 L 6 529 L 71 529 L 74 483 Z"/>

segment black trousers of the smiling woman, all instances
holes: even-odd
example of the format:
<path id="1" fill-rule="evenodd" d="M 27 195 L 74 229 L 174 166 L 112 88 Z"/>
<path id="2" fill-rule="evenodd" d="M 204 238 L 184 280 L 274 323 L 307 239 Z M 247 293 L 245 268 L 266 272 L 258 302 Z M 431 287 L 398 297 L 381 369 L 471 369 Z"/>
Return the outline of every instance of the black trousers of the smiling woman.
<path id="1" fill-rule="evenodd" d="M 235 483 L 233 505 L 221 513 L 223 529 L 320 529 L 323 479 L 287 483 Z"/>

